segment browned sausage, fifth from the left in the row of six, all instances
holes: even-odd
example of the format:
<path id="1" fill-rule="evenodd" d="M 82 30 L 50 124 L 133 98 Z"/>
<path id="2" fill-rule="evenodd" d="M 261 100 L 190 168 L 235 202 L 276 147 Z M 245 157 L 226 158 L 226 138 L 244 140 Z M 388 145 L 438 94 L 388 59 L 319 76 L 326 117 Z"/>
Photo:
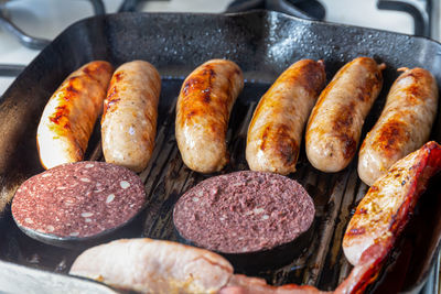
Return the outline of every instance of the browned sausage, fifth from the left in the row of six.
<path id="1" fill-rule="evenodd" d="M 385 65 L 358 57 L 343 66 L 322 91 L 306 126 L 310 163 L 322 172 L 338 172 L 354 157 L 364 120 L 381 86 Z"/>

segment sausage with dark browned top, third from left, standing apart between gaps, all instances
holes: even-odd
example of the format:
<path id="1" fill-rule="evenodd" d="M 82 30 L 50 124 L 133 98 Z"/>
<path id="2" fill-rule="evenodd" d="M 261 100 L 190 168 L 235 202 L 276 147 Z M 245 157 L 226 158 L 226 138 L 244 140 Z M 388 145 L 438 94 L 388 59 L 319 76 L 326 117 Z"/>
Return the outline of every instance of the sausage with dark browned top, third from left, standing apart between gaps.
<path id="1" fill-rule="evenodd" d="M 212 173 L 228 162 L 225 138 L 229 113 L 243 88 L 240 68 L 226 59 L 208 61 L 184 80 L 176 105 L 175 134 L 186 166 Z"/>

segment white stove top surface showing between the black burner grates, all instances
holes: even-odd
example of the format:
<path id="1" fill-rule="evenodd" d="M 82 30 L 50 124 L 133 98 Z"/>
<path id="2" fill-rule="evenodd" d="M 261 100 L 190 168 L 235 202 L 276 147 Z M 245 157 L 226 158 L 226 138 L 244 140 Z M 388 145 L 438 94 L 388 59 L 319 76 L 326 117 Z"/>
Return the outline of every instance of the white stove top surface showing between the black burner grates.
<path id="1" fill-rule="evenodd" d="M 0 1 L 1 2 L 1 1 Z M 121 0 L 105 0 L 106 11 L 114 13 Z M 148 1 L 142 11 L 213 12 L 225 11 L 232 0 L 171 0 Z M 326 9 L 326 21 L 376 28 L 412 34 L 413 20 L 405 12 L 378 10 L 376 0 L 321 0 Z M 72 23 L 93 15 L 88 1 L 15 0 L 6 4 L 8 17 L 30 35 L 53 40 Z M 29 64 L 39 51 L 21 45 L 0 28 L 0 64 Z M 0 77 L 0 95 L 13 81 Z"/>

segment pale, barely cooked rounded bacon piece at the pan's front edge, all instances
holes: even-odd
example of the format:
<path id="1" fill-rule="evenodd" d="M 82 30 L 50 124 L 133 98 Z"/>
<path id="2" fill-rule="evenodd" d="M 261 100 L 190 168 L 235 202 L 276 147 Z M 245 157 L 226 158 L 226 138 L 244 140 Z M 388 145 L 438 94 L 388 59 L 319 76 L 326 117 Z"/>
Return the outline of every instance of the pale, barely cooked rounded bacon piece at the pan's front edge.
<path id="1" fill-rule="evenodd" d="M 89 248 L 69 273 L 141 293 L 218 293 L 233 266 L 205 249 L 143 238 Z"/>

